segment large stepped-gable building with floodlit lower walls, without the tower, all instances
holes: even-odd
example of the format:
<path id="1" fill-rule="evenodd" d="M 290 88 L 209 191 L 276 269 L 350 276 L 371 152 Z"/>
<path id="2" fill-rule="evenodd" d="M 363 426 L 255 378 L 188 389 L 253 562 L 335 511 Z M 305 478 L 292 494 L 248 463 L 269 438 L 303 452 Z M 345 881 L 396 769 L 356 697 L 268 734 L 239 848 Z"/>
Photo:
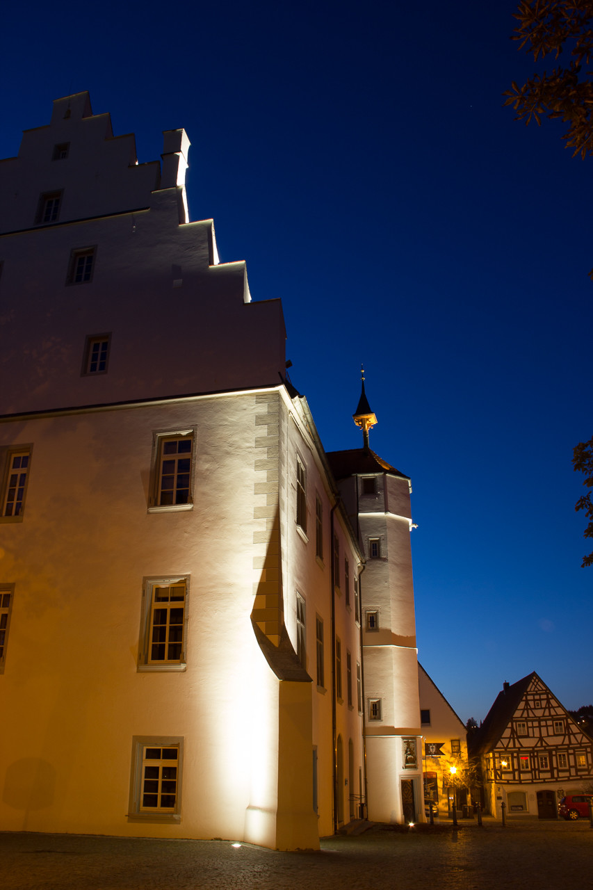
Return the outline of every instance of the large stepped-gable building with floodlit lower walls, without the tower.
<path id="1" fill-rule="evenodd" d="M 363 554 L 164 139 L 78 93 L 0 162 L 0 829 L 315 848 L 365 794 Z"/>

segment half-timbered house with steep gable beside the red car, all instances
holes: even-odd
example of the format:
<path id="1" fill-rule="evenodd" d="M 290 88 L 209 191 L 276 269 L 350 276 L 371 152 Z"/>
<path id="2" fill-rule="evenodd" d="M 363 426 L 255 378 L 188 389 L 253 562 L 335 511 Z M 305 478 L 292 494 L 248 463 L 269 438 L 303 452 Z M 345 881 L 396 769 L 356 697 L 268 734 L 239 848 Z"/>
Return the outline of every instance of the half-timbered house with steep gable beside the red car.
<path id="1" fill-rule="evenodd" d="M 535 672 L 503 684 L 470 744 L 493 815 L 505 804 L 507 813 L 556 818 L 560 797 L 593 782 L 593 740 Z"/>

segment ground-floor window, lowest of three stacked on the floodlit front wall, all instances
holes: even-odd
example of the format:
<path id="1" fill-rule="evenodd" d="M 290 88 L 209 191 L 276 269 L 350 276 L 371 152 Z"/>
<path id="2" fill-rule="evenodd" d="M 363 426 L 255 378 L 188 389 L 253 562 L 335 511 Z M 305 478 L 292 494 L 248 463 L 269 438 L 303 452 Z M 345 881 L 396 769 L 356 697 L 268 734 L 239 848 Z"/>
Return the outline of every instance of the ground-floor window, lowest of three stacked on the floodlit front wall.
<path id="1" fill-rule="evenodd" d="M 134 736 L 129 821 L 181 819 L 183 738 Z"/>

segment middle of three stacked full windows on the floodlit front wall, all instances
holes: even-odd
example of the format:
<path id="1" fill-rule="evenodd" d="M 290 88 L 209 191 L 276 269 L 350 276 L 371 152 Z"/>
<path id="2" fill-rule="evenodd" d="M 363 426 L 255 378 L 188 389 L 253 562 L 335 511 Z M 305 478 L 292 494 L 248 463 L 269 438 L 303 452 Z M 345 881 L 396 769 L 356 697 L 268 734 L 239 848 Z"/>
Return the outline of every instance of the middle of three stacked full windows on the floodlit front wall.
<path id="1" fill-rule="evenodd" d="M 188 578 L 145 578 L 140 670 L 185 668 Z"/>

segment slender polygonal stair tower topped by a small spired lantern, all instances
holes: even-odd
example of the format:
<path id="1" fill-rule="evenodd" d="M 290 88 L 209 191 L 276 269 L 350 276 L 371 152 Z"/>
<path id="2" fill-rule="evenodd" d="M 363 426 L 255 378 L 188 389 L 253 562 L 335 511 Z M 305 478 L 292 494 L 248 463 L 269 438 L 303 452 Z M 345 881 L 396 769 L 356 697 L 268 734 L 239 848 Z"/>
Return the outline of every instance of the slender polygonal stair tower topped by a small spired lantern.
<path id="1" fill-rule="evenodd" d="M 369 448 L 377 418 L 364 383 L 353 419 L 363 448 L 328 458 L 366 558 L 359 594 L 369 818 L 424 821 L 410 479 Z"/>

